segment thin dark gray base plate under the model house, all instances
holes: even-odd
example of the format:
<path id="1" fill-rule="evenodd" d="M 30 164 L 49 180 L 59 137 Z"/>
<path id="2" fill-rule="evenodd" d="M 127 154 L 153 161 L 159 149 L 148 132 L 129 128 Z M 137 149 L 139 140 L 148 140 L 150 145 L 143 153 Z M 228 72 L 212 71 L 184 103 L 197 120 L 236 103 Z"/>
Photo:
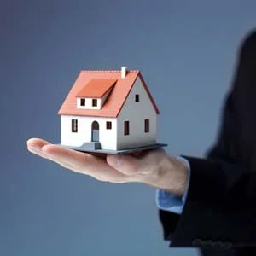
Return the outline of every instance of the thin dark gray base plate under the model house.
<path id="1" fill-rule="evenodd" d="M 61 145 L 61 144 L 58 144 Z M 143 151 L 148 149 L 154 149 L 154 148 L 162 148 L 168 146 L 168 144 L 163 143 L 155 143 L 151 145 L 146 145 L 142 147 L 136 147 L 136 148 L 126 148 L 126 149 L 120 149 L 120 150 L 110 150 L 110 149 L 87 149 L 83 147 L 72 147 L 72 146 L 66 146 L 61 145 L 64 148 L 70 148 L 76 151 L 85 152 L 85 153 L 99 153 L 99 154 L 130 154 L 136 151 Z"/>

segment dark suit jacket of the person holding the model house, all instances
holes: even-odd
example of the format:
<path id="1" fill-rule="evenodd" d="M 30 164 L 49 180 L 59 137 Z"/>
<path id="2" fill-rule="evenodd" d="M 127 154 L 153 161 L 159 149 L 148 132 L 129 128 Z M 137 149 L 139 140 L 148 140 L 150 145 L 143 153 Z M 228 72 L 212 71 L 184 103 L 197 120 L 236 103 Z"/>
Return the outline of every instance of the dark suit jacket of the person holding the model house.
<path id="1" fill-rule="evenodd" d="M 203 255 L 256 255 L 254 87 L 256 33 L 252 32 L 241 47 L 217 143 L 205 159 L 183 155 L 191 176 L 182 214 L 159 211 L 164 239 L 172 241 L 172 247 L 201 247 Z"/>

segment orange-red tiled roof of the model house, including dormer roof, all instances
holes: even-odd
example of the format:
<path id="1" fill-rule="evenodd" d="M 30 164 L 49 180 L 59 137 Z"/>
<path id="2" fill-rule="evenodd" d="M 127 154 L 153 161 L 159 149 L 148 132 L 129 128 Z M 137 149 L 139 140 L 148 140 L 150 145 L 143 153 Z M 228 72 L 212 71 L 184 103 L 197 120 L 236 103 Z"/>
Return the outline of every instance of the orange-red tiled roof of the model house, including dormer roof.
<path id="1" fill-rule="evenodd" d="M 127 71 L 125 78 L 121 78 L 121 71 L 90 71 L 83 70 L 79 73 L 65 101 L 58 112 L 60 115 L 79 115 L 79 116 L 100 116 L 117 117 L 122 109 L 125 99 L 129 95 L 131 88 L 137 78 L 141 79 L 144 89 L 152 102 L 155 112 L 160 113 L 153 97 L 151 96 L 147 84 L 139 71 Z M 99 83 L 96 83 L 99 82 Z M 107 82 L 106 84 L 104 84 Z M 96 90 L 92 84 L 96 84 Z M 99 84 L 102 85 L 102 88 Z M 86 85 L 86 86 L 85 86 Z M 89 86 L 87 88 L 87 86 Z M 113 86 L 113 90 L 108 96 L 107 102 L 101 109 L 77 108 L 77 96 L 98 97 L 102 96 Z M 86 89 L 87 88 L 87 89 Z M 108 88 L 108 89 L 107 89 Z"/>

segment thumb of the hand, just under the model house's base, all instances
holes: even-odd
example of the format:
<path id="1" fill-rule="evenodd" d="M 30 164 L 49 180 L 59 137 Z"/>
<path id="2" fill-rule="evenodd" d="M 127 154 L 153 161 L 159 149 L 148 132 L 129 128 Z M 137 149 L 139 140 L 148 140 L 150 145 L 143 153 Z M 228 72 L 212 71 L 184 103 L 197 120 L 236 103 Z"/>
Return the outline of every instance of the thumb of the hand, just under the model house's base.
<path id="1" fill-rule="evenodd" d="M 117 171 L 128 176 L 138 172 L 139 160 L 129 154 L 108 154 L 107 163 Z"/>

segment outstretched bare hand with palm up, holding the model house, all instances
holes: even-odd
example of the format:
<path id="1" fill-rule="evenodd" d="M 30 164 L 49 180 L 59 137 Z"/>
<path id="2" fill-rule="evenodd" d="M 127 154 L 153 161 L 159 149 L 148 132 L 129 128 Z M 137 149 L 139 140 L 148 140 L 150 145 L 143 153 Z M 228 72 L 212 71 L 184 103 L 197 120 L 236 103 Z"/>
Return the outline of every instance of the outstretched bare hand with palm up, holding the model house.
<path id="1" fill-rule="evenodd" d="M 144 183 L 177 194 L 183 194 L 186 183 L 187 167 L 166 154 L 163 148 L 143 151 L 137 156 L 108 154 L 98 157 L 32 138 L 27 141 L 27 149 L 69 170 L 103 182 Z"/>

